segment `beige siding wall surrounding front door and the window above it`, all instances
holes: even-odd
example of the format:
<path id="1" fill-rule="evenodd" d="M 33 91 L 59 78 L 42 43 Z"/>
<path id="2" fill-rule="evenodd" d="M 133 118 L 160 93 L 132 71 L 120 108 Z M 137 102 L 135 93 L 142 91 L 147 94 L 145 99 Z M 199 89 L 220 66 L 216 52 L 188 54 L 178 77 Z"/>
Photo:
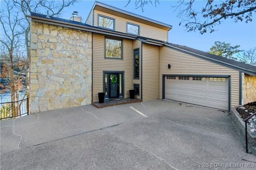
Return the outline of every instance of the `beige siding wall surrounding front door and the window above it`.
<path id="1" fill-rule="evenodd" d="M 94 33 L 92 37 L 92 101 L 98 101 L 98 93 L 103 91 L 103 71 L 124 71 L 124 97 L 129 97 L 129 90 L 133 89 L 132 40 L 123 39 L 123 59 L 106 59 L 105 36 Z"/>

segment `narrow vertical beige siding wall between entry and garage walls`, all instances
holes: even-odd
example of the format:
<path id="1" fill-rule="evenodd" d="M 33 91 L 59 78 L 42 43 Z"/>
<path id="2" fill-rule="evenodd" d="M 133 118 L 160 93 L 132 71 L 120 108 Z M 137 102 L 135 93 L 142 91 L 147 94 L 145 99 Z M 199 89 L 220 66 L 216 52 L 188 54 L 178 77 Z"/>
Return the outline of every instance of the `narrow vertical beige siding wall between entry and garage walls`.
<path id="1" fill-rule="evenodd" d="M 142 98 L 159 99 L 159 47 L 142 44 Z"/>

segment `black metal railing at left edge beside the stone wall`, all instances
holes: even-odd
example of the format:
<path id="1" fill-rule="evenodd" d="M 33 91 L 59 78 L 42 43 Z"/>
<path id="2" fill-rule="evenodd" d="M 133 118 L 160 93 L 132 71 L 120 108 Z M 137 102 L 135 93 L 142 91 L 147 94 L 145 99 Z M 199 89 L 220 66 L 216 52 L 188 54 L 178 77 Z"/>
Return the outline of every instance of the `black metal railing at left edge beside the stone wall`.
<path id="1" fill-rule="evenodd" d="M 14 102 L 0 103 L 0 120 L 28 115 L 28 98 Z"/>

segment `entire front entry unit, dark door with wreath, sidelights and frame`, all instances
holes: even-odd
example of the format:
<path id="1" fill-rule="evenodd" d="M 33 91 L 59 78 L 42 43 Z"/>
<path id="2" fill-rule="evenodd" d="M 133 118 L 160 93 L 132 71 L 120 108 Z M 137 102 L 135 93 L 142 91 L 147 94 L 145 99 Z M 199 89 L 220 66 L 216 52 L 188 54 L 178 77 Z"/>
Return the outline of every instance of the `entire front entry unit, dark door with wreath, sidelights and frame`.
<path id="1" fill-rule="evenodd" d="M 104 71 L 105 99 L 124 96 L 124 71 Z"/>

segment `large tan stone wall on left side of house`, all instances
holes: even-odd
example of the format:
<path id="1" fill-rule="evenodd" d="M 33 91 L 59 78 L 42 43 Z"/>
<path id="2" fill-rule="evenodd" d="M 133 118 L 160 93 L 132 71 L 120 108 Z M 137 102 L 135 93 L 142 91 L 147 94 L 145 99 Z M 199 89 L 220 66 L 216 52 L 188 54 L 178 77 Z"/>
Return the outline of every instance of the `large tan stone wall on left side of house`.
<path id="1" fill-rule="evenodd" d="M 92 33 L 31 22 L 30 113 L 92 101 Z"/>

